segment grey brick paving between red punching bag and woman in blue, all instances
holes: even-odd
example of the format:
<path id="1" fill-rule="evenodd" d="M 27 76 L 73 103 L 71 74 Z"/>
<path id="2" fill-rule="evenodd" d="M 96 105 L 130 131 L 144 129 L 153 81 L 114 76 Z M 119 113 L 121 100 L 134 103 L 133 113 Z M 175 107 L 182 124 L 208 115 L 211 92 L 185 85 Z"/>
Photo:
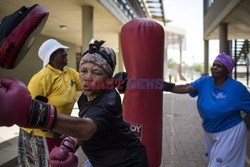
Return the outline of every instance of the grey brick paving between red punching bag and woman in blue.
<path id="1" fill-rule="evenodd" d="M 162 167 L 207 166 L 195 103 L 188 95 L 164 94 Z"/>

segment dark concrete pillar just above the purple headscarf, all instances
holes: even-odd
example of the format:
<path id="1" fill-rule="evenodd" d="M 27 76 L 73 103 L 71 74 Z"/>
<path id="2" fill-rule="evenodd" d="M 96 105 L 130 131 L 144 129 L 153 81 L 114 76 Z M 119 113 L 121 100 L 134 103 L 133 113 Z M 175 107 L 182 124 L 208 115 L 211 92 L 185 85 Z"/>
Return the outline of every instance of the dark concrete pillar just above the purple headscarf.
<path id="1" fill-rule="evenodd" d="M 220 53 L 225 52 L 229 54 L 227 31 L 228 31 L 227 23 L 221 23 L 219 26 Z"/>

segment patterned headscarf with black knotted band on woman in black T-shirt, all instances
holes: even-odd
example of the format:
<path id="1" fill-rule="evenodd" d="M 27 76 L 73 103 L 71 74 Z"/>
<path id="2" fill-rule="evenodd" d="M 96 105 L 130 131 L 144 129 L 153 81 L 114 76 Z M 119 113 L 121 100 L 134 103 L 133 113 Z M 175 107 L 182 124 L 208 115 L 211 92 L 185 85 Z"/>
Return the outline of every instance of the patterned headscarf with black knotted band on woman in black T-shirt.
<path id="1" fill-rule="evenodd" d="M 94 41 L 93 44 L 89 44 L 82 55 L 79 67 L 84 63 L 94 63 L 106 71 L 109 77 L 112 77 L 116 65 L 116 55 L 113 49 L 101 47 L 104 42 Z"/>

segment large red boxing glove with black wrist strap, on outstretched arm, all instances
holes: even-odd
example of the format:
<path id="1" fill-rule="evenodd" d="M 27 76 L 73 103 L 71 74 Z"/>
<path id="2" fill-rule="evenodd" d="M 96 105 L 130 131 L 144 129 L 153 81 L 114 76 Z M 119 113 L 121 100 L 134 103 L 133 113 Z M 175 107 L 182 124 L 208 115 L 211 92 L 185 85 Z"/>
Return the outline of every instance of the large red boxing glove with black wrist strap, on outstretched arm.
<path id="1" fill-rule="evenodd" d="M 0 126 L 50 130 L 56 119 L 56 108 L 33 100 L 26 85 L 17 79 L 0 79 Z"/>

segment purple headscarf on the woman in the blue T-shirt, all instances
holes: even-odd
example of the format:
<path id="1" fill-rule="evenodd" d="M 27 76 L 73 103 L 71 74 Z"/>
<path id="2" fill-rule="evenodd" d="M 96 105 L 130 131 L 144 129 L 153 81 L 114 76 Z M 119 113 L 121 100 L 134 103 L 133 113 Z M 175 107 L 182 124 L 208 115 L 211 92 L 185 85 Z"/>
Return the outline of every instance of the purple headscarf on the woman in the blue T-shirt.
<path id="1" fill-rule="evenodd" d="M 230 56 L 228 56 L 226 53 L 220 53 L 214 61 L 219 61 L 222 64 L 224 64 L 229 72 L 229 74 L 232 73 L 234 68 L 234 59 Z"/>

